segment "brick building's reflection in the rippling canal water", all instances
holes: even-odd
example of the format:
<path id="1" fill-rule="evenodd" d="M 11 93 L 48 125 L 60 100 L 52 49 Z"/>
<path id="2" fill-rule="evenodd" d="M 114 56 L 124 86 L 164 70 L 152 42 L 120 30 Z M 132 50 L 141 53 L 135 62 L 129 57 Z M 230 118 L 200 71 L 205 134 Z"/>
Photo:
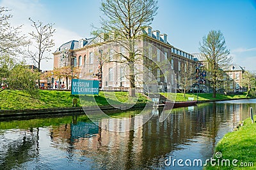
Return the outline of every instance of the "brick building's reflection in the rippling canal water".
<path id="1" fill-rule="evenodd" d="M 95 163 L 95 169 L 142 169 L 144 166 L 159 167 L 164 164 L 166 154 L 174 150 L 183 149 L 190 145 L 191 141 L 204 143 L 209 150 L 197 148 L 202 158 L 212 155 L 214 146 L 223 134 L 230 131 L 237 122 L 243 120 L 244 111 L 248 111 L 244 104 L 198 104 L 191 108 L 179 108 L 172 110 L 172 114 L 164 121 L 159 122 L 161 116 L 154 115 L 146 124 L 128 131 L 143 121 L 143 115 L 129 121 L 122 119 L 102 119 L 99 129 L 89 122 L 77 122 L 81 125 L 79 132 L 74 135 L 72 131 L 76 125 L 61 125 L 52 130 L 54 141 L 69 143 L 74 151 L 85 157 L 90 157 Z M 150 110 L 152 113 L 152 110 Z M 228 124 L 228 125 L 227 125 Z M 84 130 L 83 129 L 84 125 Z M 91 129 L 92 128 L 92 129 Z M 65 130 L 66 129 L 66 130 Z M 70 130 L 72 129 L 72 130 Z M 106 131 L 113 129 L 115 132 Z M 228 129 L 225 132 L 223 129 Z M 54 135 L 60 134 L 60 136 Z M 86 134 L 94 134 L 88 136 Z M 90 137 L 90 138 L 88 138 Z M 65 138 L 65 139 L 63 139 Z M 72 140 L 74 138 L 74 140 Z M 188 155 L 188 159 L 193 155 Z M 195 158 L 198 159 L 198 158 Z"/>

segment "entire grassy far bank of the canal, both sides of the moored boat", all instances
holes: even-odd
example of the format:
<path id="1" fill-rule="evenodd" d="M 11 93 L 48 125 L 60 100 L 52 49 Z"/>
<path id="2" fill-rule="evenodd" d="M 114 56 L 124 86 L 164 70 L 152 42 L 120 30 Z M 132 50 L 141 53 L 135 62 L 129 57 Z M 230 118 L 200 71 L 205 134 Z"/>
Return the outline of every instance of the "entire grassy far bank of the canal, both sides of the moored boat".
<path id="1" fill-rule="evenodd" d="M 26 110 L 31 110 L 31 112 L 36 111 L 44 111 L 44 109 L 52 110 L 52 112 L 60 110 L 82 110 L 82 106 L 88 109 L 93 108 L 95 106 L 100 107 L 111 107 L 111 105 L 115 106 L 123 106 L 125 104 L 135 103 L 136 106 L 145 106 L 148 102 L 146 96 L 143 94 L 136 94 L 136 97 L 131 98 L 128 96 L 128 92 L 99 92 L 99 95 L 92 96 L 77 96 L 70 94 L 70 91 L 58 91 L 58 90 L 39 90 L 40 98 L 31 99 L 29 94 L 22 90 L 4 90 L 0 93 L 0 111 L 13 113 L 23 113 Z M 162 93 L 163 96 L 170 97 L 166 93 Z M 183 94 L 171 94 L 176 95 L 176 101 L 188 101 L 188 97 L 193 97 L 196 100 L 196 94 L 186 94 L 186 97 L 183 97 Z M 81 98 L 82 97 L 82 98 Z M 77 107 L 72 108 L 72 99 L 77 99 Z M 82 100 L 81 100 L 82 99 Z M 232 95 L 225 96 L 222 94 L 216 94 L 216 98 L 212 97 L 212 94 L 198 94 L 198 102 L 209 102 L 209 101 L 223 101 L 223 100 L 231 100 L 231 99 L 246 99 L 245 94 L 243 95 Z M 59 109 L 61 108 L 61 109 Z M 113 107 L 111 107 L 113 108 Z M 15 110 L 15 111 L 14 111 Z M 50 111 L 51 112 L 51 111 Z"/>

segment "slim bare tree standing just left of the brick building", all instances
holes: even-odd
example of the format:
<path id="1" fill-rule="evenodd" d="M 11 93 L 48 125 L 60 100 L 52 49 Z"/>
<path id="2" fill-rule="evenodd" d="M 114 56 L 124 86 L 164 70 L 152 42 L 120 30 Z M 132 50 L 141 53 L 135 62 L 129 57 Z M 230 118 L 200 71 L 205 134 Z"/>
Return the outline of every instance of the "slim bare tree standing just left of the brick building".
<path id="1" fill-rule="evenodd" d="M 54 39 L 52 36 L 56 29 L 53 28 L 54 24 L 43 24 L 38 21 L 35 22 L 31 18 L 29 18 L 33 23 L 31 26 L 35 29 L 35 31 L 30 32 L 33 48 L 31 46 L 28 48 L 28 57 L 33 60 L 35 64 L 37 64 L 38 72 L 40 73 L 40 64 L 44 59 L 50 59 L 49 55 L 45 55 L 45 52 L 50 52 L 52 46 L 55 45 Z M 40 87 L 40 79 L 38 79 L 38 88 Z"/>

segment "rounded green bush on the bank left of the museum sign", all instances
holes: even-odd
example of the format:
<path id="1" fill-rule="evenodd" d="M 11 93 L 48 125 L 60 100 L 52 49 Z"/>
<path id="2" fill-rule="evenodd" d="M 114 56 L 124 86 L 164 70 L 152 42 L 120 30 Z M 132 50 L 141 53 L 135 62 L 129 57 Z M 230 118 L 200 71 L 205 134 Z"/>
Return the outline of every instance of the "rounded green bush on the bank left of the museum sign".
<path id="1" fill-rule="evenodd" d="M 8 87 L 10 89 L 25 90 L 31 97 L 38 97 L 38 90 L 36 89 L 36 80 L 38 80 L 38 72 L 29 69 L 24 64 L 17 64 L 10 71 L 8 77 Z"/>

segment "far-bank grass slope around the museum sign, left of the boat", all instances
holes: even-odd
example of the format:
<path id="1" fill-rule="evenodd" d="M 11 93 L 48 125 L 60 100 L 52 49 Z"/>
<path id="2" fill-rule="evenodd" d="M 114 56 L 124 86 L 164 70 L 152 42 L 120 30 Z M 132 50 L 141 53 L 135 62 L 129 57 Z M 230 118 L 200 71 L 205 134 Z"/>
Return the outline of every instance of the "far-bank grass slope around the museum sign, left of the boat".
<path id="1" fill-rule="evenodd" d="M 109 103 L 147 103 L 147 97 L 136 94 L 136 97 L 129 98 L 128 92 L 99 92 L 99 95 L 72 95 L 68 91 L 39 90 L 39 99 L 32 99 L 23 90 L 3 90 L 0 92 L 1 110 L 24 110 L 39 108 L 66 108 L 72 107 L 72 99 L 77 98 L 77 106 L 106 106 Z M 138 101 L 137 101 L 138 98 Z M 137 102 L 136 102 L 137 101 Z"/>

